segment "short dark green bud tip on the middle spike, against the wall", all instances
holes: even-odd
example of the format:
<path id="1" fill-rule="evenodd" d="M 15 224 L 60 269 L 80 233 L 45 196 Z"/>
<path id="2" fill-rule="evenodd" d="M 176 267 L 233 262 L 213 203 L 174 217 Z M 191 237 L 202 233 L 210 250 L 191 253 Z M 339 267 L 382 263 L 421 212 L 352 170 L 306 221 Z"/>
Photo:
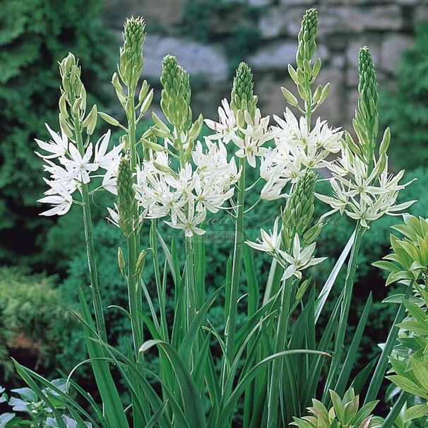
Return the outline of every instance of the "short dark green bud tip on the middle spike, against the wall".
<path id="1" fill-rule="evenodd" d="M 237 114 L 238 110 L 248 110 L 249 114 L 254 116 L 257 97 L 254 96 L 253 88 L 253 73 L 249 66 L 242 62 L 233 79 L 230 107 L 234 114 Z"/>

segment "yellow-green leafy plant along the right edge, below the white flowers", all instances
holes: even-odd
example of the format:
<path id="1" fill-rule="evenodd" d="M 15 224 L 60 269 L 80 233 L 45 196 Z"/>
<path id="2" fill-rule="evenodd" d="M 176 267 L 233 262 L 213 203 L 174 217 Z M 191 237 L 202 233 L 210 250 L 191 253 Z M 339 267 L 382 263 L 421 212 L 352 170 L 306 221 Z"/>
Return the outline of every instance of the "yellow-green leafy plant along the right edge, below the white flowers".
<path id="1" fill-rule="evenodd" d="M 412 405 L 405 410 L 404 422 L 428 415 L 428 219 L 405 215 L 404 221 L 403 225 L 393 226 L 403 235 L 391 234 L 393 252 L 374 263 L 389 272 L 387 285 L 398 282 L 406 287 L 404 296 L 387 299 L 400 300 L 400 308 L 391 329 L 398 343 L 388 343 L 389 338 L 386 343 L 386 347 L 393 347 L 387 350 L 393 374 L 386 377 L 402 390 L 386 420 L 387 427 L 392 426 L 393 418 L 406 402 Z"/>

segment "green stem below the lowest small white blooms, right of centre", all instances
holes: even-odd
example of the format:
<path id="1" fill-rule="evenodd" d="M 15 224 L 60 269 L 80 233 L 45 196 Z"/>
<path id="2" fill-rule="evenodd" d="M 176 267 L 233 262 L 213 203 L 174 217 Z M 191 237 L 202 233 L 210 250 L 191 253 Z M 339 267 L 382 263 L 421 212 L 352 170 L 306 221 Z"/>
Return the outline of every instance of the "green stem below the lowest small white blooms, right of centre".
<path id="1" fill-rule="evenodd" d="M 279 307 L 278 326 L 275 334 L 275 354 L 285 350 L 287 343 L 288 325 L 290 323 L 290 305 L 292 297 L 292 284 L 290 281 L 283 281 L 283 291 L 281 294 L 281 302 Z M 278 404 L 281 372 L 283 367 L 283 359 L 274 359 L 272 363 L 271 387 L 269 388 L 268 397 L 268 428 L 278 427 Z M 292 376 L 292 373 L 288 373 Z"/>

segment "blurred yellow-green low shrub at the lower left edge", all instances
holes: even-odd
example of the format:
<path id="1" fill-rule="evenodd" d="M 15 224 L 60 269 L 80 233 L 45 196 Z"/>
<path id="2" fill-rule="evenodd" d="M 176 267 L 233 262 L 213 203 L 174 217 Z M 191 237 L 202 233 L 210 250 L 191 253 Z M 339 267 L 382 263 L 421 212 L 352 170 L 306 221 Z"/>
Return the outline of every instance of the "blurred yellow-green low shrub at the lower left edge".
<path id="1" fill-rule="evenodd" d="M 0 268 L 2 379 L 14 374 L 11 356 L 52 373 L 61 348 L 80 329 L 55 283 L 56 278 L 30 275 L 26 268 Z"/>

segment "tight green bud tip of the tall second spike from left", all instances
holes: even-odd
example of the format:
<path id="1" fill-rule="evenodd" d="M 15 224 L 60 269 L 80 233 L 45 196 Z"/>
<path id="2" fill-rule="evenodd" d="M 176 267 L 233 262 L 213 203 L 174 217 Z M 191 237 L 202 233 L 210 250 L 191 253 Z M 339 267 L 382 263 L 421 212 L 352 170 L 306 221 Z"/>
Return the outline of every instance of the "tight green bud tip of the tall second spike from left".
<path id="1" fill-rule="evenodd" d="M 143 18 L 129 18 L 124 25 L 124 46 L 120 50 L 119 72 L 125 85 L 135 90 L 143 70 L 143 43 L 145 23 Z"/>

